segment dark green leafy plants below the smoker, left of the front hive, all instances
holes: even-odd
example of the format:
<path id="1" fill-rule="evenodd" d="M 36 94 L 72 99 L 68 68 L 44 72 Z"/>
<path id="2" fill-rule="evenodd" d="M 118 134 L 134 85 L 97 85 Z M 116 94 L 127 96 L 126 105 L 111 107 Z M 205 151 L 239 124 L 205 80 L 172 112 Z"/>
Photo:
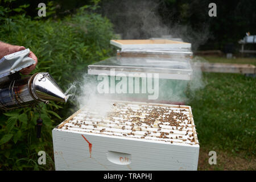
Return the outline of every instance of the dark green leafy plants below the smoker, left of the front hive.
<path id="1" fill-rule="evenodd" d="M 39 113 L 35 108 L 17 109 L 3 113 L 0 119 L 0 163 L 3 169 L 39 169 L 35 166 L 36 155 L 40 150 L 51 150 L 51 130 L 56 119 L 51 117 L 46 105 L 42 106 L 44 120 L 42 139 L 36 138 L 35 125 Z M 56 113 L 53 114 L 59 117 Z M 32 157 L 32 158 L 31 158 Z M 33 159 L 34 158 L 34 159 Z M 22 159 L 22 160 L 21 160 Z M 32 162 L 34 160 L 34 162 Z"/>

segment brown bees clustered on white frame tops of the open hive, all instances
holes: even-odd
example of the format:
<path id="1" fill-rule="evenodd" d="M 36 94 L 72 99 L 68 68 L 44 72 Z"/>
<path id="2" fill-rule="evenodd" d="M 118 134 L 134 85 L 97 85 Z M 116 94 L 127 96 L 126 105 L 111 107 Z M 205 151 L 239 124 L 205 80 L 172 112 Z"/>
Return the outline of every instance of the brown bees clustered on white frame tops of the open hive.
<path id="1" fill-rule="evenodd" d="M 102 128 L 102 126 L 104 126 L 104 119 L 101 119 L 101 121 L 91 122 L 93 129 L 90 130 L 108 134 L 112 132 L 109 131 L 109 129 L 113 128 L 122 129 L 125 132 L 112 132 L 112 135 L 122 135 L 124 137 L 130 136 L 138 138 L 137 136 L 141 135 L 141 137 L 139 138 L 142 139 L 150 139 L 148 137 L 156 137 L 159 138 L 159 140 L 163 141 L 166 141 L 164 139 L 175 139 L 176 142 L 177 140 L 179 140 L 180 142 L 186 142 L 187 140 L 189 140 L 188 142 L 190 143 L 196 141 L 195 137 L 193 137 L 193 134 L 188 134 L 189 131 L 191 131 L 189 130 L 190 128 L 188 126 L 189 124 L 191 124 L 191 119 L 189 119 L 187 114 L 184 114 L 184 111 L 187 111 L 185 109 L 179 109 L 179 112 L 177 112 L 168 107 L 152 106 L 149 108 L 145 105 L 140 105 L 139 109 L 134 110 L 132 107 L 129 107 L 127 105 L 125 106 L 125 109 L 123 109 L 124 106 L 125 105 L 123 104 L 114 103 L 113 107 L 115 109 L 108 113 L 107 118 L 109 119 L 110 123 L 113 123 L 114 126 L 106 125 L 106 128 Z M 179 108 L 181 107 L 179 106 Z M 117 120 L 115 119 L 116 117 L 122 117 L 123 119 L 117 123 L 115 122 Z M 92 118 L 92 115 L 86 115 L 86 117 L 84 117 L 84 119 L 81 121 L 79 121 L 79 119 L 71 119 L 70 122 L 74 126 L 81 128 L 82 125 L 88 126 L 89 124 L 86 121 L 89 121 Z M 128 125 L 127 121 L 131 124 Z M 155 121 L 158 121 L 158 123 L 155 123 Z M 101 126 L 101 129 L 98 129 L 98 126 Z M 171 126 L 171 130 L 168 132 L 162 131 L 164 129 L 162 129 L 161 126 Z M 65 129 L 67 130 L 68 127 L 72 126 L 65 126 Z M 130 130 L 130 132 L 127 133 L 127 130 Z M 185 131 L 184 135 L 188 136 L 183 138 L 184 135 L 178 135 L 178 133 L 175 134 L 175 131 L 177 130 Z M 144 133 L 141 134 L 137 131 L 142 131 Z M 173 143 L 174 141 L 171 140 L 169 142 Z"/>

